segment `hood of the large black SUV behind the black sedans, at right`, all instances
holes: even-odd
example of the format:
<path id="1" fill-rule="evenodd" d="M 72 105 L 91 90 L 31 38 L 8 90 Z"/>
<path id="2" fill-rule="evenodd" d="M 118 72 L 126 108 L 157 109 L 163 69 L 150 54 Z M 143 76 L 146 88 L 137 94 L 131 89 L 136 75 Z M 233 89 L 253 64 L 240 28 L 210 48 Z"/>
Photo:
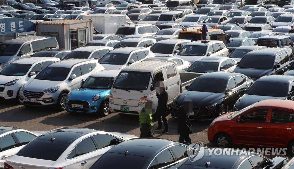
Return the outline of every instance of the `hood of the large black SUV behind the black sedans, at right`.
<path id="1" fill-rule="evenodd" d="M 258 79 L 261 76 L 268 75 L 271 72 L 271 69 L 235 68 L 234 72 Z"/>

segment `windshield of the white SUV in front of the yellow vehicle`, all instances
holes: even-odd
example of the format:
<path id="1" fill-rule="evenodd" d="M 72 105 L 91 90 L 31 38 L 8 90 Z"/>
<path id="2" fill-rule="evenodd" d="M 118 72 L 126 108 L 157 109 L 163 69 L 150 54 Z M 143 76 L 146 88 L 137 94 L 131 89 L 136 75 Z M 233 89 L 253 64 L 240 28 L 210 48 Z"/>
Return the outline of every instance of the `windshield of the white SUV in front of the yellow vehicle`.
<path id="1" fill-rule="evenodd" d="M 207 46 L 185 45 L 178 55 L 183 56 L 204 56 Z"/>

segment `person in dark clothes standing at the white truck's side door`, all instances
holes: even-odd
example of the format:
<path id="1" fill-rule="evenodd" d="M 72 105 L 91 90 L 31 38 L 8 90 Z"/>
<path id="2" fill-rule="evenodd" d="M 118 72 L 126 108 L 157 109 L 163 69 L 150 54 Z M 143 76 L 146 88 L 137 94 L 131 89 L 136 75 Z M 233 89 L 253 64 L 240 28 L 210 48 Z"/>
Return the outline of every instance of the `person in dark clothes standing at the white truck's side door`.
<path id="1" fill-rule="evenodd" d="M 164 124 L 163 134 L 169 133 L 168 122 L 166 119 L 168 92 L 165 90 L 164 83 L 162 81 L 156 82 L 156 97 L 158 98 L 158 104 L 156 108 L 156 115 L 158 121 L 158 128 L 155 131 L 162 130 L 162 122 Z"/>

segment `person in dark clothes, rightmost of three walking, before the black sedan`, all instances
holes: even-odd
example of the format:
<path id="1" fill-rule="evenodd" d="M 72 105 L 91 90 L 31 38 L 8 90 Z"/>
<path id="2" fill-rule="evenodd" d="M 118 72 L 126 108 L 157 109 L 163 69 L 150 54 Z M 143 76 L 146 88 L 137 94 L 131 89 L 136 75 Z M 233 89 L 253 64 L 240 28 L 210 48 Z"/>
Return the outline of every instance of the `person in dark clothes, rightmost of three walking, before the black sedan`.
<path id="1" fill-rule="evenodd" d="M 183 105 L 178 107 L 177 111 L 177 121 L 178 121 L 178 134 L 180 135 L 179 141 L 180 143 L 191 144 L 191 138 L 189 134 L 192 133 L 190 128 L 190 118 L 188 112 L 193 108 L 193 102 L 183 101 Z"/>

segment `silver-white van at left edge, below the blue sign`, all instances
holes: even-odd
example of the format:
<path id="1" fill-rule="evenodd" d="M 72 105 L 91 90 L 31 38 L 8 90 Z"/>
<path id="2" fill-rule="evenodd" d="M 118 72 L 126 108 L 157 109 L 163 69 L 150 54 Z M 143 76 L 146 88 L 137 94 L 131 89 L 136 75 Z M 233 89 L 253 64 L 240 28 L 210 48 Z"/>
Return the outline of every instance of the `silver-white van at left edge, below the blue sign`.
<path id="1" fill-rule="evenodd" d="M 32 54 L 43 49 L 59 49 L 53 36 L 29 36 L 11 39 L 0 45 L 0 71 L 11 62 L 29 58 Z"/>

